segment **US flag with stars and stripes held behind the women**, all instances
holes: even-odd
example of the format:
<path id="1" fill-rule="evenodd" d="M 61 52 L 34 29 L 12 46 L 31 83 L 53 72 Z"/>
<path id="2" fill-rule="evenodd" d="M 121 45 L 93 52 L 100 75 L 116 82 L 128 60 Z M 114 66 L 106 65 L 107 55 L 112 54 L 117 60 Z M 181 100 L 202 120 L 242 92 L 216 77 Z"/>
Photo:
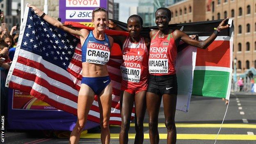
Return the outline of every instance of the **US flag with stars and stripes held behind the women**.
<path id="1" fill-rule="evenodd" d="M 6 85 L 26 91 L 59 110 L 77 115 L 78 91 L 82 79 L 81 54 L 78 37 L 48 24 L 26 7 Z M 121 124 L 121 62 L 121 57 L 112 56 L 107 64 L 113 85 L 110 124 L 118 125 Z M 88 120 L 99 123 L 99 117 L 95 96 Z"/>

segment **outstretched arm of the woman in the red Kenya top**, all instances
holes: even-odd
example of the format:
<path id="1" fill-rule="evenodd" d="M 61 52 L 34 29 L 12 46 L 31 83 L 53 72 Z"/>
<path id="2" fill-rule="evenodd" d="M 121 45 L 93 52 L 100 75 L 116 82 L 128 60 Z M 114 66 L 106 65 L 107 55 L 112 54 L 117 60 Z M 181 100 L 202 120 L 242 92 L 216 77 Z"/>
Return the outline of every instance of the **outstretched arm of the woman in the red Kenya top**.
<path id="1" fill-rule="evenodd" d="M 228 24 L 225 24 L 226 21 L 228 21 L 228 18 L 224 19 L 219 26 L 217 27 L 218 30 L 224 30 L 226 28 L 229 27 Z M 176 41 L 184 41 L 185 43 L 191 45 L 191 46 L 196 46 L 198 48 L 203 48 L 206 49 L 217 37 L 217 34 L 211 34 L 210 37 L 208 37 L 206 40 L 204 41 L 198 41 L 195 39 L 191 39 L 191 37 L 189 37 L 187 34 L 185 34 L 185 32 L 179 31 L 179 30 L 175 30 L 174 31 L 174 38 L 176 37 Z"/>

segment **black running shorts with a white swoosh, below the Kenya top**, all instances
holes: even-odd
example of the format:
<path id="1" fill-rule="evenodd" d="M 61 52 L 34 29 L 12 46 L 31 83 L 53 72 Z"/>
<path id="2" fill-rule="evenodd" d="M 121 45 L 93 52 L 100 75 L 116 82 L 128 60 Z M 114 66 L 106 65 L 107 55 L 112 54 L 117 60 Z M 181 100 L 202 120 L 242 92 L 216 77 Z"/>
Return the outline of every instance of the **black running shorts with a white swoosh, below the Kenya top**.
<path id="1" fill-rule="evenodd" d="M 149 75 L 149 85 L 147 92 L 158 94 L 177 94 L 177 77 L 174 75 Z"/>

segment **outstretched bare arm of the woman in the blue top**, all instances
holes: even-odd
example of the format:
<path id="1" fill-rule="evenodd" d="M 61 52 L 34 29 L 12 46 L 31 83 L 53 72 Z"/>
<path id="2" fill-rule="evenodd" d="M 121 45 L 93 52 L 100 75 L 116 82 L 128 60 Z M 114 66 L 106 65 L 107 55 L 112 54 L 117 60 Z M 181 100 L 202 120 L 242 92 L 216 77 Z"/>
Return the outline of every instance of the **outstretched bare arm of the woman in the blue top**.
<path id="1" fill-rule="evenodd" d="M 41 11 L 40 9 L 38 9 L 35 6 L 32 6 L 32 5 L 27 5 L 27 6 L 32 8 L 34 10 L 34 13 L 39 15 L 39 16 L 42 16 L 44 14 L 43 11 Z M 47 21 L 48 23 L 50 23 L 51 25 L 54 25 L 55 27 L 58 27 L 59 29 L 64 30 L 65 32 L 69 32 L 71 34 L 74 34 L 74 35 L 77 35 L 77 36 L 80 36 L 80 37 L 84 37 L 84 36 L 87 37 L 87 35 L 83 34 L 85 32 L 81 32 L 81 29 L 75 29 L 75 28 L 71 28 L 71 27 L 66 27 L 66 26 L 62 25 L 61 22 L 57 21 L 55 18 L 53 18 L 53 17 L 51 17 L 49 15 L 43 16 L 43 19 L 45 21 Z"/>

